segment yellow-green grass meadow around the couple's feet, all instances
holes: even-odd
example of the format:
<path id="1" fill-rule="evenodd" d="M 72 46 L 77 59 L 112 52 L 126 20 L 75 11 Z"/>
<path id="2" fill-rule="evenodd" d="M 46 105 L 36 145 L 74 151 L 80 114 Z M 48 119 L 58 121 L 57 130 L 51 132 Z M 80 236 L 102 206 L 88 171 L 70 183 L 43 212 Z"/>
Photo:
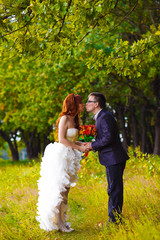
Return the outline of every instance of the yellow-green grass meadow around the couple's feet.
<path id="1" fill-rule="evenodd" d="M 148 164 L 148 163 L 147 163 Z M 156 165 L 157 167 L 157 165 Z M 40 163 L 0 162 L 1 240 L 158 240 L 160 239 L 159 174 L 146 171 L 144 160 L 127 162 L 124 173 L 123 224 L 106 228 L 105 169 L 94 154 L 79 172 L 69 194 L 72 233 L 45 232 L 35 219 Z M 149 168 L 148 168 L 149 169 Z M 104 227 L 103 227 L 104 226 Z"/>

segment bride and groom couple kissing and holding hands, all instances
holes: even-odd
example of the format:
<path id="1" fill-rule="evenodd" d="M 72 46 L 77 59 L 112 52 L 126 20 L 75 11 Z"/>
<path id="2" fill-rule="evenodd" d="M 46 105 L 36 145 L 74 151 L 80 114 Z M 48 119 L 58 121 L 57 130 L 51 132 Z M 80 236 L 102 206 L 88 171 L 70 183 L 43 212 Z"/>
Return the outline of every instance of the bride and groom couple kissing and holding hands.
<path id="1" fill-rule="evenodd" d="M 94 114 L 97 137 L 95 142 L 84 144 L 77 141 L 79 114 L 84 110 L 82 98 L 69 94 L 64 100 L 57 120 L 59 142 L 47 145 L 41 163 L 36 217 L 41 229 L 73 231 L 67 222 L 68 193 L 77 180 L 81 152 L 90 150 L 98 151 L 100 163 L 106 167 L 109 222 L 118 221 L 123 204 L 123 171 L 128 156 L 121 145 L 117 123 L 105 107 L 106 99 L 102 93 L 89 95 L 86 109 Z"/>

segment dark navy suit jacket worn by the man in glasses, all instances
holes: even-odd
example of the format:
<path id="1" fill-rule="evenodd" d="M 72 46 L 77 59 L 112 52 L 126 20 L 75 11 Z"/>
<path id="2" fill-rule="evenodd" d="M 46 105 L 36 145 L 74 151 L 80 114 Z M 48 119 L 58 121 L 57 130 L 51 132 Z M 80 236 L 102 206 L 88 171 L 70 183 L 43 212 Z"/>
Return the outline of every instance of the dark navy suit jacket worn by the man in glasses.
<path id="1" fill-rule="evenodd" d="M 125 162 L 129 157 L 121 144 L 117 122 L 106 109 L 98 114 L 96 129 L 97 137 L 92 148 L 98 151 L 100 163 L 107 167 Z"/>

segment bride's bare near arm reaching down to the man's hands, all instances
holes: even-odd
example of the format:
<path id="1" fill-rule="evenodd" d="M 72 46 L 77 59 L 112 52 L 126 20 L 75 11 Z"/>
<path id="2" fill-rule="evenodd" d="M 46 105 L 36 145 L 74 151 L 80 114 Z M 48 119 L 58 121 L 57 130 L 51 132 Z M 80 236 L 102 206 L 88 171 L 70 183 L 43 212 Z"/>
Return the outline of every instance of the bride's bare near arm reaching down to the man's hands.
<path id="1" fill-rule="evenodd" d="M 76 143 L 70 142 L 66 138 L 67 129 L 68 129 L 68 119 L 67 119 L 67 116 L 63 116 L 63 117 L 61 117 L 60 122 L 59 122 L 59 130 L 58 130 L 59 142 L 64 144 L 67 147 L 71 147 L 71 148 L 74 148 L 74 149 L 84 152 L 85 151 L 84 146 L 79 146 Z"/>

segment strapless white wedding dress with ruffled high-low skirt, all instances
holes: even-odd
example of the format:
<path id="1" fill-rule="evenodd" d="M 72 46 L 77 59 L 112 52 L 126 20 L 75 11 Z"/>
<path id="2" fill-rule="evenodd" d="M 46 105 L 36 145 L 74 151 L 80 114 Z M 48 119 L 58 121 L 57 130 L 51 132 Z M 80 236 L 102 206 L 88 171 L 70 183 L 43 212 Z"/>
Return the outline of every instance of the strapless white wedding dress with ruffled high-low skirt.
<path id="1" fill-rule="evenodd" d="M 66 138 L 72 142 L 78 140 L 78 129 L 67 130 Z M 59 230 L 55 222 L 57 207 L 62 202 L 61 193 L 65 187 L 73 187 L 78 179 L 77 172 L 80 168 L 81 152 L 66 147 L 61 143 L 47 145 L 41 162 L 40 179 L 38 180 L 39 197 L 37 203 L 37 221 L 41 229 L 46 231 Z M 66 226 L 70 226 L 67 220 L 67 204 L 61 209 L 62 219 Z"/>

